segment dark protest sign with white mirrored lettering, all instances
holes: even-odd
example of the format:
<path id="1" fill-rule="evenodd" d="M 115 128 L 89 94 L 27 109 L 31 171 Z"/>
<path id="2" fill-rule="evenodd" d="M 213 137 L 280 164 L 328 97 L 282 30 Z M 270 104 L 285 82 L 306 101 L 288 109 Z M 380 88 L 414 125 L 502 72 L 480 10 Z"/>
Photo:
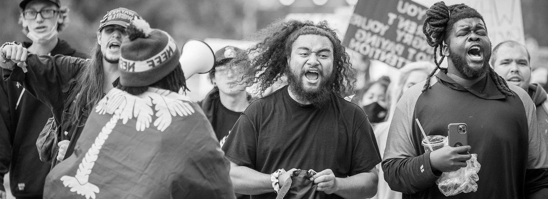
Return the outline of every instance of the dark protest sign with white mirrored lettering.
<path id="1" fill-rule="evenodd" d="M 432 60 L 423 21 L 427 8 L 410 0 L 360 0 L 344 39 L 346 47 L 400 68 Z"/>

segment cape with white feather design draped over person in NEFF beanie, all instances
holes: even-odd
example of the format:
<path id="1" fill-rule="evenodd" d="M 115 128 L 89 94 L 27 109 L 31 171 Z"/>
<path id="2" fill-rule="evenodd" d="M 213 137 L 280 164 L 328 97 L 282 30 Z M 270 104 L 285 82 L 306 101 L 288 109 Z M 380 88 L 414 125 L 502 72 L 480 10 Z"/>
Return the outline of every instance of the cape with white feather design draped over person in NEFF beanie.
<path id="1" fill-rule="evenodd" d="M 112 89 L 44 198 L 234 198 L 229 162 L 199 106 L 169 90 Z"/>

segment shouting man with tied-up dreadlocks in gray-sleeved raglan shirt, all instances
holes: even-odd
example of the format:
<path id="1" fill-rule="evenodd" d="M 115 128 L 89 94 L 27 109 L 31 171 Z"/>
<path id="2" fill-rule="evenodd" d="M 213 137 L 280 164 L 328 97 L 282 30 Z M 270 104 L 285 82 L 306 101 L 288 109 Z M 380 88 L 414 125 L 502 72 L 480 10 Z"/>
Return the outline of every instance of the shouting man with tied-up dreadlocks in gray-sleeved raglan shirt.
<path id="1" fill-rule="evenodd" d="M 466 167 L 470 153 L 481 163 L 477 191 L 450 198 L 546 198 L 548 153 L 535 108 L 520 87 L 489 67 L 491 44 L 481 14 L 465 4 L 438 2 L 427 10 L 424 33 L 448 67 L 436 62 L 424 87 L 399 100 L 383 159 L 385 179 L 403 198 L 445 198 L 435 181 Z M 425 152 L 423 135 L 447 136 L 449 123 L 466 123 L 468 144 Z M 470 153 L 468 153 L 470 152 Z M 543 195 L 544 194 L 544 195 Z"/>

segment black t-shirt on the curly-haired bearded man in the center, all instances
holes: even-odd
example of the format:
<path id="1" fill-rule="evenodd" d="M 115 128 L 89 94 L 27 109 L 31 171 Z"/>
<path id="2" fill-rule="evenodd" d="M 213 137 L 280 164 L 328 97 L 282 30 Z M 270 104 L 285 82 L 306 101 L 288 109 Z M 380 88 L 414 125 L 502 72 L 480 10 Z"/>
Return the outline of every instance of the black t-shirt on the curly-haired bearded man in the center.
<path id="1" fill-rule="evenodd" d="M 335 177 L 344 178 L 368 172 L 380 162 L 373 129 L 357 105 L 334 93 L 321 108 L 301 105 L 289 96 L 287 86 L 250 104 L 222 150 L 230 161 L 265 174 L 280 168 L 329 168 Z M 272 190 L 252 197 L 276 194 Z"/>

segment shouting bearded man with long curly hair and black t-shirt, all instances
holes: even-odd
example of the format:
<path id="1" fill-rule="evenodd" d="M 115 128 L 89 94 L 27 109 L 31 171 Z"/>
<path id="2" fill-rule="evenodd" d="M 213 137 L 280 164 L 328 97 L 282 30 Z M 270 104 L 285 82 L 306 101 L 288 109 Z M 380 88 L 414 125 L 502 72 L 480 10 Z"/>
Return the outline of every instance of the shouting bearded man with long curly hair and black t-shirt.
<path id="1" fill-rule="evenodd" d="M 264 92 L 287 75 L 289 85 L 250 104 L 222 146 L 235 192 L 276 198 L 293 171 L 313 169 L 316 198 L 374 196 L 379 150 L 366 114 L 341 97 L 354 82 L 335 30 L 290 20 L 259 33 L 251 83 Z"/>

